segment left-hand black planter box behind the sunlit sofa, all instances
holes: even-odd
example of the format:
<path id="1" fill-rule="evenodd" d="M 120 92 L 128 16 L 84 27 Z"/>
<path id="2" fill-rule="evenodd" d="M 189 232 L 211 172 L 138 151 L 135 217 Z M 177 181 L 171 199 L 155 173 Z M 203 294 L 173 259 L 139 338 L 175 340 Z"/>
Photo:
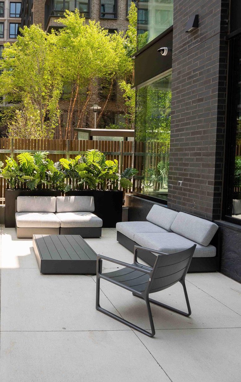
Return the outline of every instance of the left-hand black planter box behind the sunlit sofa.
<path id="1" fill-rule="evenodd" d="M 27 190 L 27 189 L 16 189 L 16 190 L 5 190 L 5 227 L 14 228 L 15 227 L 15 201 L 18 196 L 61 196 L 61 191 L 55 190 Z"/>

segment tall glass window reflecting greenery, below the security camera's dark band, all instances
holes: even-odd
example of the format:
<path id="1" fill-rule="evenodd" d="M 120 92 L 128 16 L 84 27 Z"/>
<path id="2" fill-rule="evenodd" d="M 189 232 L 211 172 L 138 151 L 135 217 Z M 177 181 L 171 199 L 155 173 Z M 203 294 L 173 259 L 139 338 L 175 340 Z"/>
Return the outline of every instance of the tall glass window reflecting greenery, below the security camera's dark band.
<path id="1" fill-rule="evenodd" d="M 136 92 L 135 191 L 167 200 L 171 123 L 171 73 Z"/>

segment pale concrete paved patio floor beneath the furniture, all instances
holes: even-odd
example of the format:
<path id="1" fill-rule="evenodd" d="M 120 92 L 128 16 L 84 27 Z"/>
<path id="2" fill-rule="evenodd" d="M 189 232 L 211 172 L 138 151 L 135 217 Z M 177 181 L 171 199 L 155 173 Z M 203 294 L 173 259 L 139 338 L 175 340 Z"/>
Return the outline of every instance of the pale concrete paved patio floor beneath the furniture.
<path id="1" fill-rule="evenodd" d="M 32 241 L 13 228 L 1 233 L 1 382 L 241 381 L 239 283 L 188 274 L 191 317 L 152 306 L 149 338 L 95 310 L 95 277 L 41 275 Z M 87 241 L 97 253 L 133 260 L 114 229 Z M 103 307 L 149 329 L 143 301 L 107 282 L 101 289 Z M 181 285 L 156 295 L 183 307 Z"/>

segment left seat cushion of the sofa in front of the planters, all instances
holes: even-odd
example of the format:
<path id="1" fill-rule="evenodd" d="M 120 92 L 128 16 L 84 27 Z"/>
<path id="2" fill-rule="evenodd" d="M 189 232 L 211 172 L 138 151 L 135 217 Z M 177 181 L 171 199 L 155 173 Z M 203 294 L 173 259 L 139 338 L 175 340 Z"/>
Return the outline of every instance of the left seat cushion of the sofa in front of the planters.
<path id="1" fill-rule="evenodd" d="M 19 228 L 58 228 L 60 220 L 52 212 L 16 212 Z"/>

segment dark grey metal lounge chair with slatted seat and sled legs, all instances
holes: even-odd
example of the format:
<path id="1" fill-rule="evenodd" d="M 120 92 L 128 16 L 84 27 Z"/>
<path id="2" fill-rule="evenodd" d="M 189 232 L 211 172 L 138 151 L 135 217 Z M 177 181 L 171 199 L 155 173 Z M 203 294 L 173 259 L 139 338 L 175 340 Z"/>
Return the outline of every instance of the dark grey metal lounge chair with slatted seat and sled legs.
<path id="1" fill-rule="evenodd" d="M 185 285 L 185 277 L 186 273 L 188 272 L 188 267 L 191 263 L 191 259 L 195 248 L 196 244 L 184 251 L 173 254 L 167 254 L 160 251 L 154 251 L 153 249 L 135 246 L 133 264 L 127 264 L 125 262 L 111 259 L 110 257 L 106 256 L 97 256 L 96 309 L 122 322 L 123 324 L 126 324 L 131 328 L 148 335 L 149 337 L 153 337 L 155 335 L 155 328 L 152 319 L 152 312 L 150 309 L 150 302 L 160 305 L 163 308 L 170 309 L 173 312 L 180 313 L 183 316 L 190 316 L 191 308 Z M 156 253 L 158 255 L 153 268 L 147 267 L 146 265 L 142 265 L 139 262 L 137 262 L 138 251 L 147 251 Z M 123 265 L 125 266 L 125 268 L 116 270 L 114 272 L 102 273 L 102 260 L 107 260 L 115 264 Z M 147 330 L 144 330 L 137 325 L 132 324 L 129 321 L 126 321 L 122 317 L 116 316 L 116 314 L 113 314 L 112 312 L 109 312 L 100 306 L 101 278 L 110 281 L 111 283 L 116 284 L 118 286 L 121 286 L 121 288 L 125 288 L 131 291 L 134 296 L 143 298 L 146 301 L 151 333 L 147 332 Z M 150 293 L 155 293 L 169 288 L 169 286 L 174 285 L 178 281 L 183 286 L 186 304 L 188 307 L 187 313 L 149 298 Z"/>

